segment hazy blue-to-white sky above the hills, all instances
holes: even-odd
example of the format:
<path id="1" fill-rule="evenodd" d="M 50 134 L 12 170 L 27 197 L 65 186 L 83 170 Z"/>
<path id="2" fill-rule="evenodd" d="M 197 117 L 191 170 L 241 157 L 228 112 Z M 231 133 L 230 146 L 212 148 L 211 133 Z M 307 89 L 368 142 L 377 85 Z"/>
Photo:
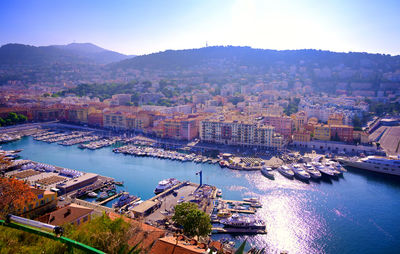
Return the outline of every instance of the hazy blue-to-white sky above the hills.
<path id="1" fill-rule="evenodd" d="M 0 0 L 0 45 L 126 54 L 208 45 L 400 54 L 400 0 Z"/>

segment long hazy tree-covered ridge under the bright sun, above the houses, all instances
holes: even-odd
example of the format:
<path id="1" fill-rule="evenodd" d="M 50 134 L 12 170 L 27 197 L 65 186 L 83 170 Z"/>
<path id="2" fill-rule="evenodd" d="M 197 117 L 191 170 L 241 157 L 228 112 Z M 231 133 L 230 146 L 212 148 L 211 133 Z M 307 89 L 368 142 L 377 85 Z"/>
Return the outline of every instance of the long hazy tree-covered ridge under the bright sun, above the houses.
<path id="1" fill-rule="evenodd" d="M 332 67 L 344 64 L 359 68 L 391 69 L 399 65 L 399 56 L 368 53 L 337 53 L 321 50 L 265 50 L 250 47 L 215 46 L 187 50 L 167 50 L 149 55 L 137 56 L 111 64 L 121 69 L 178 70 L 201 67 L 210 63 L 249 67 L 270 67 L 302 63 L 315 67 Z"/>

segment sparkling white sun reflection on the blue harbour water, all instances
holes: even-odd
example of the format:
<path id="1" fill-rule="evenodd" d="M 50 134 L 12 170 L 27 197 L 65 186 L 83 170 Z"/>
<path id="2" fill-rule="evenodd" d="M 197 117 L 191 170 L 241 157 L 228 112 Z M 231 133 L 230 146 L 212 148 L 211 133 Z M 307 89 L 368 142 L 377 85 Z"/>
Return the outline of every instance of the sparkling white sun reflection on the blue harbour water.
<path id="1" fill-rule="evenodd" d="M 286 250 L 289 253 L 319 253 L 318 242 L 328 236 L 326 222 L 310 206 L 310 185 L 289 180 L 275 172 L 275 180 L 248 174 L 248 181 L 256 189 L 245 196 L 259 197 L 263 207 L 257 212 L 267 225 L 267 235 L 250 236 L 249 242 L 268 253 Z M 260 194 L 262 193 L 262 194 Z"/>

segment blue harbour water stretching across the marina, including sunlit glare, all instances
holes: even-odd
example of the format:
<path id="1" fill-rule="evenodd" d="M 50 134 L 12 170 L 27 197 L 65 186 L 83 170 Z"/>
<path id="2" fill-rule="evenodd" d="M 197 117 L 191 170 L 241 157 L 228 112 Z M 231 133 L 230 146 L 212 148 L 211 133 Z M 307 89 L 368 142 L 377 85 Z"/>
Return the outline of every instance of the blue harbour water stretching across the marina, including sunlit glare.
<path id="1" fill-rule="evenodd" d="M 267 253 L 400 253 L 400 179 L 348 169 L 343 177 L 309 184 L 274 172 L 275 180 L 260 172 L 243 172 L 218 165 L 116 154 L 111 147 L 81 150 L 24 137 L 2 149 L 23 149 L 31 159 L 70 169 L 93 172 L 124 181 L 132 195 L 148 199 L 165 178 L 214 185 L 224 199 L 259 197 L 256 216 L 265 220 L 268 234 L 216 235 L 237 242 L 248 239 Z"/>

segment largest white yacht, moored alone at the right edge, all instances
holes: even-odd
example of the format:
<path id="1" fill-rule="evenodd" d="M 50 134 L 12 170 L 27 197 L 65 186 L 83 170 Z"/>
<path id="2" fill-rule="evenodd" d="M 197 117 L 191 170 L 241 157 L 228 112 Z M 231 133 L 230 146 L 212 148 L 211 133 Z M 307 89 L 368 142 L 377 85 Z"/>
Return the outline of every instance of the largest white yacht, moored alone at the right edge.
<path id="1" fill-rule="evenodd" d="M 400 176 L 399 157 L 368 156 L 365 158 L 338 158 L 344 166 Z"/>

